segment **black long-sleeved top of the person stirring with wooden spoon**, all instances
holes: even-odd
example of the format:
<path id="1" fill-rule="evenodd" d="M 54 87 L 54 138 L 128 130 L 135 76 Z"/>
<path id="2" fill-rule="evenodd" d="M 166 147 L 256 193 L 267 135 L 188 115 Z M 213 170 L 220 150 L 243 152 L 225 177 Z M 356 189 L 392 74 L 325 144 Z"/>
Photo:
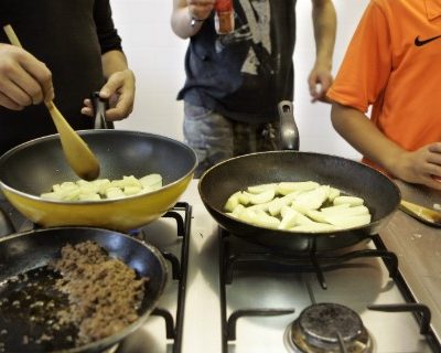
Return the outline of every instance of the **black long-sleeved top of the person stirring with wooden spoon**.
<path id="1" fill-rule="evenodd" d="M 101 55 L 121 50 L 109 0 L 1 0 L 0 24 L 11 24 L 23 47 L 51 69 L 54 103 L 72 127 L 93 128 L 80 114 L 83 100 L 105 83 Z M 0 42 L 9 43 L 2 29 Z M 22 111 L 0 107 L 0 156 L 55 132 L 44 104 Z"/>

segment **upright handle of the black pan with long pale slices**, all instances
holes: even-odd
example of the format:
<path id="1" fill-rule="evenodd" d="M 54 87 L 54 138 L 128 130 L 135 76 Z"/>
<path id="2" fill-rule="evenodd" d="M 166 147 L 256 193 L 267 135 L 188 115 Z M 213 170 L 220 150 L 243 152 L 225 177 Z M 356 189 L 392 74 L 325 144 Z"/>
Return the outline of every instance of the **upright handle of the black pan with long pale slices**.
<path id="1" fill-rule="evenodd" d="M 278 105 L 280 117 L 280 142 L 282 150 L 299 150 L 299 129 L 295 125 L 293 105 L 282 100 Z"/>

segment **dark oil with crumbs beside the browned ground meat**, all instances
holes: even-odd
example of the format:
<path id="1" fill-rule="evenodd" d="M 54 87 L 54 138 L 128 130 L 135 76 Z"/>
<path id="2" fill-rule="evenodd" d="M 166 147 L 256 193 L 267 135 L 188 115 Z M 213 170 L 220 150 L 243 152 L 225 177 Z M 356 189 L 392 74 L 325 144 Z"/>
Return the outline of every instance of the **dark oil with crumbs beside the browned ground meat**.
<path id="1" fill-rule="evenodd" d="M 0 284 L 0 353 L 75 346 L 77 328 L 58 317 L 69 306 L 67 295 L 55 288 L 58 278 L 45 266 Z"/>

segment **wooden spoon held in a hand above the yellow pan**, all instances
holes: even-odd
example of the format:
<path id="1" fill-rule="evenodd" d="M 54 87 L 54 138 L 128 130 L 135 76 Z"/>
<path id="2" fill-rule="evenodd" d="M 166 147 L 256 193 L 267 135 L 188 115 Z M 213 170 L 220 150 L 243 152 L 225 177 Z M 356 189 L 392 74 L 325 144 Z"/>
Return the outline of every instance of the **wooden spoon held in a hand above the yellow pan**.
<path id="1" fill-rule="evenodd" d="M 17 38 L 10 24 L 3 26 L 12 45 L 22 47 L 19 39 Z M 95 180 L 99 175 L 99 162 L 95 154 L 90 151 L 87 143 L 79 137 L 79 135 L 71 127 L 60 110 L 55 107 L 54 103 L 45 101 L 45 105 L 51 114 L 55 124 L 56 130 L 60 135 L 64 156 L 74 172 L 82 179 Z"/>

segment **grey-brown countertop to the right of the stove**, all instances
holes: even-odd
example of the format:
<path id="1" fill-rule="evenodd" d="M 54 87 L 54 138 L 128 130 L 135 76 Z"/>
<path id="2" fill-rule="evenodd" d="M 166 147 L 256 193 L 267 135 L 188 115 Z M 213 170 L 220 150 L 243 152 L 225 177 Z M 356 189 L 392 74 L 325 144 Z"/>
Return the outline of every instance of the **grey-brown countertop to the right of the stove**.
<path id="1" fill-rule="evenodd" d="M 396 181 L 402 200 L 433 208 L 441 192 Z M 431 325 L 441 339 L 441 229 L 424 225 L 397 211 L 379 233 L 386 247 L 398 256 L 402 277 L 418 302 L 432 313 Z"/>

